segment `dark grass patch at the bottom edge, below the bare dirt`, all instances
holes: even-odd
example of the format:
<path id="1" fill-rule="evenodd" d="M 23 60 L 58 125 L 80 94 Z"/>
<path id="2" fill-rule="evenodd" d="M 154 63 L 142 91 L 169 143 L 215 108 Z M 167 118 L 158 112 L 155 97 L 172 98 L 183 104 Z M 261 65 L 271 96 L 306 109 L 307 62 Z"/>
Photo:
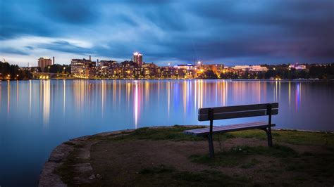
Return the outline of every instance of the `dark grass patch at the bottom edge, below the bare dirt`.
<path id="1" fill-rule="evenodd" d="M 246 177 L 228 176 L 216 170 L 185 172 L 159 165 L 144 168 L 139 174 L 135 180 L 140 186 L 251 186 Z"/>

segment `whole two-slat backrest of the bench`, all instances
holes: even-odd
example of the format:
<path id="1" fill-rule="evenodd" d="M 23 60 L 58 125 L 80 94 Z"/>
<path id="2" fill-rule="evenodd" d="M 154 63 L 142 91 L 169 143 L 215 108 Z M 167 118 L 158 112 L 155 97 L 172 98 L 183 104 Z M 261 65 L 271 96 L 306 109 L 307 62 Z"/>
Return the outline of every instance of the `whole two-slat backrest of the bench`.
<path id="1" fill-rule="evenodd" d="M 278 103 L 264 103 L 256 105 L 237 105 L 215 108 L 199 108 L 198 120 L 223 120 L 238 117 L 255 117 L 262 115 L 277 115 Z"/>

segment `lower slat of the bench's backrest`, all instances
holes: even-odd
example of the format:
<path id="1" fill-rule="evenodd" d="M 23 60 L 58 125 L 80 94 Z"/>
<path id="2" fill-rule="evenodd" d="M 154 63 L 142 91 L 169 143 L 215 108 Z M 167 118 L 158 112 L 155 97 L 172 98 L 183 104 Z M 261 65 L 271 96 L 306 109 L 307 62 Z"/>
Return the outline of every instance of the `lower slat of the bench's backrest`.
<path id="1" fill-rule="evenodd" d="M 271 115 L 277 115 L 277 114 L 278 114 L 278 109 L 271 110 Z M 239 117 L 255 117 L 261 115 L 268 115 L 267 110 L 214 113 L 214 120 L 224 120 L 224 119 L 239 118 Z M 203 115 L 198 115 L 198 120 L 200 122 L 209 121 L 209 116 L 207 113 L 206 114 L 204 113 Z"/>

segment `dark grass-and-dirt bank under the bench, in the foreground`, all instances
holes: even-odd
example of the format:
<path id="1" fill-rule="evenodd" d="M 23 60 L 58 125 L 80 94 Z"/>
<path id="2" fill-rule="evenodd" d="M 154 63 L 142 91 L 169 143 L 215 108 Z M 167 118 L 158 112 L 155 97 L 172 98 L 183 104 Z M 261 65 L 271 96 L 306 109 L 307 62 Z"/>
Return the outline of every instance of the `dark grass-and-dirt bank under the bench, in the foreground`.
<path id="1" fill-rule="evenodd" d="M 216 157 L 205 138 L 185 135 L 190 127 L 141 128 L 90 136 L 75 144 L 58 167 L 70 186 L 333 186 L 334 134 L 273 131 L 273 148 L 264 131 L 214 136 Z M 80 158 L 89 142 L 90 157 Z M 92 179 L 76 182 L 76 165 L 92 166 Z"/>

